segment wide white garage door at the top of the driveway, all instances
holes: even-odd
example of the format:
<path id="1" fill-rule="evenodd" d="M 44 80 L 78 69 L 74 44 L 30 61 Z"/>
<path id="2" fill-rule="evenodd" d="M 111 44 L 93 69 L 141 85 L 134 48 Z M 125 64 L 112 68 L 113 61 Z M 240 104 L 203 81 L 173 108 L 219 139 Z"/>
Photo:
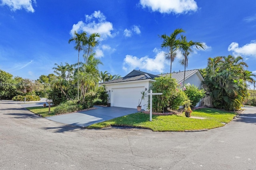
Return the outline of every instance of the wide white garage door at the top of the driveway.
<path id="1" fill-rule="evenodd" d="M 144 89 L 144 86 L 134 88 L 113 88 L 111 95 L 113 101 L 112 106 L 136 109 L 139 99 L 141 98 L 140 92 Z"/>

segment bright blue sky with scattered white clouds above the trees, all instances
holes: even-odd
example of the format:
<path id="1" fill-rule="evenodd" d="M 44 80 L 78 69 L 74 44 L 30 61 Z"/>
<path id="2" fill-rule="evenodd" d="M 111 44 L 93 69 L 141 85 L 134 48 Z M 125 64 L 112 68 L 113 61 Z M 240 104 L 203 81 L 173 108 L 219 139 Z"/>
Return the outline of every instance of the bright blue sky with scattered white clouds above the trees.
<path id="1" fill-rule="evenodd" d="M 159 35 L 177 28 L 206 45 L 190 55 L 187 70 L 205 68 L 208 57 L 240 55 L 256 73 L 255 0 L 0 0 L 0 69 L 36 80 L 54 63 L 77 63 L 68 44 L 76 30 L 101 35 L 100 71 L 167 73 Z M 172 71 L 184 70 L 178 61 Z"/>

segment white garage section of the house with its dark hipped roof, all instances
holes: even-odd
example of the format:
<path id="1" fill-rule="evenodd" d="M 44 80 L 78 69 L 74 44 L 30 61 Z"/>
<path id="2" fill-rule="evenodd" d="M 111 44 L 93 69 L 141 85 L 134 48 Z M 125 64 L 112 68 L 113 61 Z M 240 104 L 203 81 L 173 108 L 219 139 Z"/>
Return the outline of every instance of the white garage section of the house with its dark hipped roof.
<path id="1" fill-rule="evenodd" d="M 100 83 L 100 85 L 105 86 L 107 90 L 110 106 L 136 109 L 139 99 L 141 99 L 140 92 L 148 92 L 152 83 L 156 81 L 154 80 L 155 77 L 158 76 L 140 70 L 133 70 L 122 78 L 109 80 Z M 146 104 L 148 104 L 148 98 L 142 100 L 141 108 L 147 109 Z"/>

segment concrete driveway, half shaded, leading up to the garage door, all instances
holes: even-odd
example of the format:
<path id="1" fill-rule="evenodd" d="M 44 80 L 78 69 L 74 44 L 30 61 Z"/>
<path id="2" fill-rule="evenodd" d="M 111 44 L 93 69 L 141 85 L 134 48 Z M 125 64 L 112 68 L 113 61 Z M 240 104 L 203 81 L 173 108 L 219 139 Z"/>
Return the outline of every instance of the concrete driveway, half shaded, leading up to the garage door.
<path id="1" fill-rule="evenodd" d="M 59 123 L 64 123 L 66 125 L 74 126 L 89 126 L 94 123 L 114 119 L 116 117 L 121 117 L 124 115 L 129 115 L 132 113 L 137 113 L 137 109 L 123 108 L 123 107 L 101 107 L 95 106 L 96 109 L 91 109 L 87 111 L 79 111 L 75 113 L 69 113 L 64 115 L 56 115 L 51 117 L 46 117 L 46 119 L 56 121 Z"/>

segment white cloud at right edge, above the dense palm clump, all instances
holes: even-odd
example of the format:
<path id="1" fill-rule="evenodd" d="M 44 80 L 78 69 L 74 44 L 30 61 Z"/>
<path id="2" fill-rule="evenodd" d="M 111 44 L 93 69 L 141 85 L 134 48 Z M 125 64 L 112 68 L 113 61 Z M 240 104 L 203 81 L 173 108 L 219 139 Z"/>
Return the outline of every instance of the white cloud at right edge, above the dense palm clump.
<path id="1" fill-rule="evenodd" d="M 238 43 L 232 42 L 228 46 L 228 51 L 233 51 L 233 55 L 245 55 L 256 57 L 256 41 L 251 41 L 250 43 L 239 47 Z"/>

